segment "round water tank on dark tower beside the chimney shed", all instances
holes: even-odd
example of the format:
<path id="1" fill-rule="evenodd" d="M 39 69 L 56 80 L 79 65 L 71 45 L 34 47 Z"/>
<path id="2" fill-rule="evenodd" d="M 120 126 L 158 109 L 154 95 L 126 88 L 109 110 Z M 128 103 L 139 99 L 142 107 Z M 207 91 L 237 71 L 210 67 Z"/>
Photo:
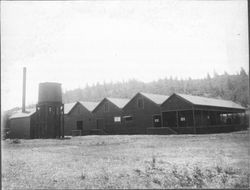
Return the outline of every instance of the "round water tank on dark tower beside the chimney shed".
<path id="1" fill-rule="evenodd" d="M 39 84 L 35 138 L 64 137 L 64 105 L 60 83 Z"/>

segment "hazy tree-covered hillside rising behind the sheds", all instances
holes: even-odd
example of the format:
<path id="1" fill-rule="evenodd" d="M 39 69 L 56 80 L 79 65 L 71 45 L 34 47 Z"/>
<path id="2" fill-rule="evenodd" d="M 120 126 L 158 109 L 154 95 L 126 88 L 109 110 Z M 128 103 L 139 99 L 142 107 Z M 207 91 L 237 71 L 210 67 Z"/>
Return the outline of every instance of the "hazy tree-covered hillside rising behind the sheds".
<path id="1" fill-rule="evenodd" d="M 177 79 L 166 77 L 157 81 L 145 83 L 135 79 L 117 83 L 97 83 L 85 88 L 66 91 L 63 94 L 65 103 L 74 101 L 100 101 L 104 97 L 131 98 L 137 92 L 147 92 L 163 95 L 171 95 L 173 92 L 199 95 L 205 97 L 232 100 L 243 106 L 247 106 L 249 95 L 249 76 L 241 68 L 236 74 L 224 72 L 218 75 L 214 72 L 203 79 Z"/>

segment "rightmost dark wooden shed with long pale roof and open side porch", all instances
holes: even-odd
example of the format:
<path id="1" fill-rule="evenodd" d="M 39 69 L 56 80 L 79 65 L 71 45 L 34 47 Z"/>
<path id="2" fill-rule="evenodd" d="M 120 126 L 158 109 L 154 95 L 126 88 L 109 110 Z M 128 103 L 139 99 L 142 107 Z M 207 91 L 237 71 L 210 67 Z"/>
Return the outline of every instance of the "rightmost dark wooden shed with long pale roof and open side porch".
<path id="1" fill-rule="evenodd" d="M 177 133 L 228 132 L 244 128 L 245 108 L 228 100 L 174 93 L 161 108 L 163 127 Z"/>

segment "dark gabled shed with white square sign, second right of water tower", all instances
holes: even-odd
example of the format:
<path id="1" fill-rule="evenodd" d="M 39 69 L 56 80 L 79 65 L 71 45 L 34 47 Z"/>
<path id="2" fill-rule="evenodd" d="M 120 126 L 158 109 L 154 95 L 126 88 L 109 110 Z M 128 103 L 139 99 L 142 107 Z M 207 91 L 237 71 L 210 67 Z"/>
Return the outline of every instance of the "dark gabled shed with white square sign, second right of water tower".
<path id="1" fill-rule="evenodd" d="M 104 98 L 93 110 L 96 118 L 96 129 L 106 134 L 123 134 L 122 108 L 129 99 Z"/>

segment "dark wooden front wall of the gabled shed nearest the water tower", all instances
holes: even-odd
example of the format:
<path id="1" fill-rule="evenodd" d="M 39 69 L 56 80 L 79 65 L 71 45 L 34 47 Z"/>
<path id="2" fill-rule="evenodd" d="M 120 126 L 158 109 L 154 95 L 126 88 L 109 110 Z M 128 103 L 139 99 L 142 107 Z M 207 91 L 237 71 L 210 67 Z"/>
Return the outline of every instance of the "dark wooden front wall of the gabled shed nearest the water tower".
<path id="1" fill-rule="evenodd" d="M 72 135 L 72 130 L 77 130 L 77 121 L 83 122 L 83 130 L 90 130 L 95 128 L 95 119 L 92 112 L 87 110 L 80 103 L 64 115 L 64 134 Z"/>

